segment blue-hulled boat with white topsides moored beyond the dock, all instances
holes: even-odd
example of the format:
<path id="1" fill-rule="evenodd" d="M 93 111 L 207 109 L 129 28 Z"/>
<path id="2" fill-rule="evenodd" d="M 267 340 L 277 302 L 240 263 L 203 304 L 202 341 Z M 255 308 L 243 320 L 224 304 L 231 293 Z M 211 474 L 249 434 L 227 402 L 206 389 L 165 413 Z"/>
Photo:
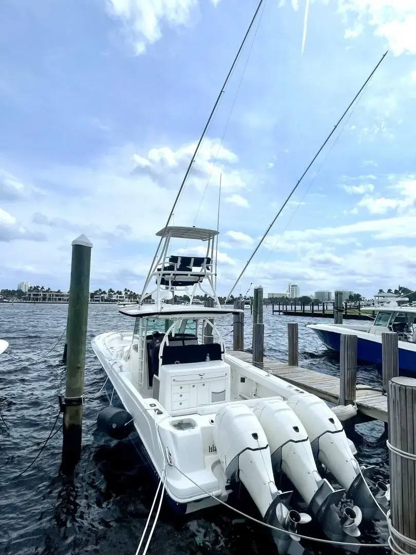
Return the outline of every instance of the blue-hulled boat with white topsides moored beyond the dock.
<path id="1" fill-rule="evenodd" d="M 357 336 L 357 358 L 377 365 L 381 371 L 382 334 L 394 332 L 398 335 L 399 370 L 401 374 L 416 372 L 416 307 L 399 305 L 390 301 L 382 306 L 366 306 L 362 312 L 369 313 L 372 322 L 359 324 L 309 324 L 323 344 L 339 351 L 342 334 Z"/>

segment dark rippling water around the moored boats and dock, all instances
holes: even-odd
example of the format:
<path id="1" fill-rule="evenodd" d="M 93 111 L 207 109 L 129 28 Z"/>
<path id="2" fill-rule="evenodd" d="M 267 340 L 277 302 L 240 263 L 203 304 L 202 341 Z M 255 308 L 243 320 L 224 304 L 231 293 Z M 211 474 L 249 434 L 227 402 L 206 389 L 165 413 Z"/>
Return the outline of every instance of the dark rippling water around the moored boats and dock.
<path id="1" fill-rule="evenodd" d="M 66 305 L 0 304 L 0 337 L 9 352 L 0 356 L 0 553 L 3 555 L 79 554 L 134 555 L 156 491 L 156 483 L 140 457 L 138 441 L 114 442 L 95 427 L 97 413 L 108 405 L 105 392 L 89 400 L 105 381 L 90 346 L 97 334 L 129 329 L 133 319 L 122 316 L 114 305 L 90 305 L 82 459 L 75 479 L 59 472 L 62 433 L 59 432 L 23 476 L 21 472 L 37 455 L 38 443 L 48 437 L 63 393 L 65 369 L 60 364 L 63 341 L 47 359 L 44 355 L 58 341 L 67 320 Z M 265 309 L 265 356 L 287 360 L 287 322 L 299 323 L 300 365 L 326 374 L 339 374 L 339 361 L 328 354 L 306 324 L 322 321 L 308 317 L 272 316 Z M 224 320 L 224 322 L 226 322 Z M 221 325 L 232 346 L 231 319 Z M 245 346 L 251 346 L 251 319 L 246 311 Z M 380 387 L 373 366 L 359 366 L 358 381 Z M 383 424 L 357 426 L 358 460 L 377 465 L 388 476 L 388 453 L 379 441 Z M 245 506 L 248 511 L 252 507 Z M 251 514 L 255 515 L 252 511 Z M 384 523 L 364 530 L 367 542 L 385 541 Z M 316 536 L 313 527 L 301 533 Z M 334 549 L 306 544 L 311 553 L 329 555 Z M 241 555 L 277 553 L 267 534 L 256 524 L 239 518 L 225 507 L 215 507 L 187 517 L 177 517 L 163 504 L 149 554 Z M 341 553 L 341 551 L 339 551 Z M 383 548 L 361 553 L 385 553 Z"/>

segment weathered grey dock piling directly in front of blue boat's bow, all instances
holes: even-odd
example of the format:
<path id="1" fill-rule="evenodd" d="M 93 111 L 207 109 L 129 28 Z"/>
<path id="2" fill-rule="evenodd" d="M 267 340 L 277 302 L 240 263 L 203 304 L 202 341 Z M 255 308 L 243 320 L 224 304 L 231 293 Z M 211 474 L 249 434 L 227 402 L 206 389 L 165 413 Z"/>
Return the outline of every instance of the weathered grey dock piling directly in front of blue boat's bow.
<path id="1" fill-rule="evenodd" d="M 341 334 L 339 404 L 353 405 L 357 389 L 357 336 Z"/>

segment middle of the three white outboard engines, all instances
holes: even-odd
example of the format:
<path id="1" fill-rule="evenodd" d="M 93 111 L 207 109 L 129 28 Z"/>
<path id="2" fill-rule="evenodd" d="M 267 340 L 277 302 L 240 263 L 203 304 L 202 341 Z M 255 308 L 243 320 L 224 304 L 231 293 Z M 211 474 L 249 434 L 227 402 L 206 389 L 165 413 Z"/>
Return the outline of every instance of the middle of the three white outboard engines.
<path id="1" fill-rule="evenodd" d="M 253 408 L 270 447 L 273 470 L 284 472 L 316 515 L 324 533 L 334 541 L 358 537 L 361 511 L 334 491 L 316 468 L 305 427 L 282 399 L 258 401 Z"/>

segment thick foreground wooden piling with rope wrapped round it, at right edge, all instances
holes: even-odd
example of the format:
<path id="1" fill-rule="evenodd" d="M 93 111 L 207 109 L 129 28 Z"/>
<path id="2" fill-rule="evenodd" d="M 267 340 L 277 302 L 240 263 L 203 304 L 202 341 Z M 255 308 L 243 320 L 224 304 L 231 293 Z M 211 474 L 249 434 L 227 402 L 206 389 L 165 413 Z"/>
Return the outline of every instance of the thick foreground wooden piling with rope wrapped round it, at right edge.
<path id="1" fill-rule="evenodd" d="M 388 390 L 388 447 L 390 459 L 390 534 L 403 553 L 414 547 L 398 539 L 396 529 L 416 542 L 416 380 L 393 377 Z M 399 451 L 397 451 L 399 450 Z M 408 455 L 406 455 L 408 453 Z M 397 549 L 400 552 L 400 549 Z"/>

